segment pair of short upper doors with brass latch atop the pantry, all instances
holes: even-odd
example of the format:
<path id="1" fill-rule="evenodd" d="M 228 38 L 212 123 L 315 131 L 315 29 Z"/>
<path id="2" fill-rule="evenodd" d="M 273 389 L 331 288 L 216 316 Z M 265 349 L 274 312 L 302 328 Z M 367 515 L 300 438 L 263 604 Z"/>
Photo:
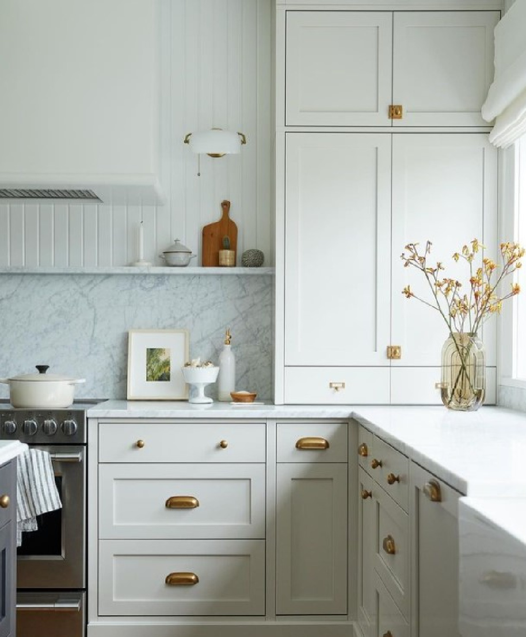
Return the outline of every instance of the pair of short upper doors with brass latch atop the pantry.
<path id="1" fill-rule="evenodd" d="M 287 11 L 284 123 L 485 126 L 480 108 L 492 81 L 499 17 Z"/>

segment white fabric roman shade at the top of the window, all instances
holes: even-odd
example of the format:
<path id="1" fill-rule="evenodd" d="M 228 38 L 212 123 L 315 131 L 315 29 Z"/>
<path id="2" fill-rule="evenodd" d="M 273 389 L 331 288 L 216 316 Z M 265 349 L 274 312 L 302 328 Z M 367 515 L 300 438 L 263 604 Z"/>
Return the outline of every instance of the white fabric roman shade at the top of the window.
<path id="1" fill-rule="evenodd" d="M 515 0 L 495 27 L 495 78 L 481 112 L 486 122 L 495 119 L 495 146 L 526 133 L 526 0 Z"/>

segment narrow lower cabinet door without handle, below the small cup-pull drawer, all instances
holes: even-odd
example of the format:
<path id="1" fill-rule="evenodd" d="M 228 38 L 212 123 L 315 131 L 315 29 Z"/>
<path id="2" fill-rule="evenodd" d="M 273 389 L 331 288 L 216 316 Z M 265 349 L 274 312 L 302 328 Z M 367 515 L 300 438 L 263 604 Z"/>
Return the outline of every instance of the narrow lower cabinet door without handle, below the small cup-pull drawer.
<path id="1" fill-rule="evenodd" d="M 347 464 L 279 464 L 278 615 L 347 613 Z"/>

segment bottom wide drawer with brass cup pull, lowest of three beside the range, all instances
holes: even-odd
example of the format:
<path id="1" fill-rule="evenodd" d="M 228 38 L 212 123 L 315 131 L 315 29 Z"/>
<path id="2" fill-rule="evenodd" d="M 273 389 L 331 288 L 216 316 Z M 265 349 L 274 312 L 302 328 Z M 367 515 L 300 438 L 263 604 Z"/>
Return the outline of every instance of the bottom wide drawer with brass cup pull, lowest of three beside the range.
<path id="1" fill-rule="evenodd" d="M 263 540 L 99 542 L 99 615 L 264 614 Z"/>

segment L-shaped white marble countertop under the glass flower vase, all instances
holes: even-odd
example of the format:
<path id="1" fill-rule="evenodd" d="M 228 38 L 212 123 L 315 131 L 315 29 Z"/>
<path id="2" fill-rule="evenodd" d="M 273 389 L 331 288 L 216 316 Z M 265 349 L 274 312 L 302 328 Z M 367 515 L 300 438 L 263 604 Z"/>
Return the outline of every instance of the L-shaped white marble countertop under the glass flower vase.
<path id="1" fill-rule="evenodd" d="M 107 401 L 89 417 L 118 419 L 356 419 L 462 494 L 526 497 L 526 413 L 499 407 L 274 405 Z"/>

